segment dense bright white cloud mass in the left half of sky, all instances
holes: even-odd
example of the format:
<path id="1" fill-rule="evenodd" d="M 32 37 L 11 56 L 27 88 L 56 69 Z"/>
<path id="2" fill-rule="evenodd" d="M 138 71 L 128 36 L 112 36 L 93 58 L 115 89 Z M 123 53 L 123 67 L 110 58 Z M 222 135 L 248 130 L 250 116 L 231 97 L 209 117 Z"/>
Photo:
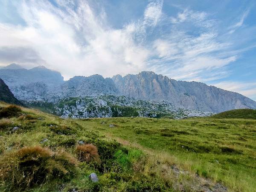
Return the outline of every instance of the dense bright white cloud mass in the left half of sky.
<path id="1" fill-rule="evenodd" d="M 131 23 L 112 29 L 104 10 L 96 13 L 88 3 L 79 1 L 75 12 L 70 4 L 59 3 L 62 10 L 45 1 L 24 1 L 18 9 L 27 25 L 1 23 L 0 47 L 29 47 L 44 58 L 47 67 L 60 71 L 66 79 L 95 73 L 124 75 L 145 69 L 148 50 L 133 39 L 137 26 Z M 149 4 L 143 24 L 157 23 L 159 6 Z"/>

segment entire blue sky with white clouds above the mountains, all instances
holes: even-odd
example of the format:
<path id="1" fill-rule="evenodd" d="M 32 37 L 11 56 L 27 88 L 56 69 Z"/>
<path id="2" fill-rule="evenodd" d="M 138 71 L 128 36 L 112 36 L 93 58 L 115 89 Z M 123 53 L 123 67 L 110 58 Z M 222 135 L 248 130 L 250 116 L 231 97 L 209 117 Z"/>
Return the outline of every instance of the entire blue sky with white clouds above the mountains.
<path id="1" fill-rule="evenodd" d="M 0 66 L 154 71 L 256 100 L 255 0 L 0 0 Z"/>

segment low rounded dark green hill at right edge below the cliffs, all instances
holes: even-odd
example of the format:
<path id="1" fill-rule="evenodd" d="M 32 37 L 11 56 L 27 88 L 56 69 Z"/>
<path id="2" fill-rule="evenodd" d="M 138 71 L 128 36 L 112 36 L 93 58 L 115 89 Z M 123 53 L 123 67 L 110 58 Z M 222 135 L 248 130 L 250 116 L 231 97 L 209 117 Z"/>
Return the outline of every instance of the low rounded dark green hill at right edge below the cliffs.
<path id="1" fill-rule="evenodd" d="M 231 111 L 224 111 L 213 115 L 216 119 L 256 119 L 256 110 L 254 109 L 234 109 Z"/>

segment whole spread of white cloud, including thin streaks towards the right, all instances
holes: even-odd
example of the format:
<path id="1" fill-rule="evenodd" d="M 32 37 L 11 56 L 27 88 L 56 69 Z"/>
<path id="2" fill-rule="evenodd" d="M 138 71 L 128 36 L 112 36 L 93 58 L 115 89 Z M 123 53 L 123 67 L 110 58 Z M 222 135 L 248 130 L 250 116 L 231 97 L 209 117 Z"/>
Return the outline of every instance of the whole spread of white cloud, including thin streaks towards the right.
<path id="1" fill-rule="evenodd" d="M 35 53 L 15 60 L 17 54 L 10 57 L 3 52 L 9 63 L 44 64 L 65 79 L 153 70 L 178 80 L 206 82 L 226 77 L 225 67 L 239 57 L 239 52 L 230 50 L 228 39 L 220 41 L 216 22 L 206 12 L 184 9 L 171 17 L 162 10 L 163 0 L 155 0 L 141 18 L 115 29 L 99 4 L 85 0 L 76 4 L 57 0 L 57 4 L 58 8 L 45 0 L 23 1 L 17 10 L 26 26 L 0 23 L 0 48 L 24 47 Z M 2 59 L 0 65 L 6 62 Z"/>

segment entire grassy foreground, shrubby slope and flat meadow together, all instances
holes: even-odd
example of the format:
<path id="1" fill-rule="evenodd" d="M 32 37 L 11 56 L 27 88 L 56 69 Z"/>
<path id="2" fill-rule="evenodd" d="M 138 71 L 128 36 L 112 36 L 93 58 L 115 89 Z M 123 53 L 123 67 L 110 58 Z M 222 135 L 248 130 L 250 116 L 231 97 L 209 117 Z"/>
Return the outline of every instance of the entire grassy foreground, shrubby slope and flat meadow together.
<path id="1" fill-rule="evenodd" d="M 256 120 L 74 120 L 8 106 L 0 103 L 0 191 L 256 189 Z"/>

